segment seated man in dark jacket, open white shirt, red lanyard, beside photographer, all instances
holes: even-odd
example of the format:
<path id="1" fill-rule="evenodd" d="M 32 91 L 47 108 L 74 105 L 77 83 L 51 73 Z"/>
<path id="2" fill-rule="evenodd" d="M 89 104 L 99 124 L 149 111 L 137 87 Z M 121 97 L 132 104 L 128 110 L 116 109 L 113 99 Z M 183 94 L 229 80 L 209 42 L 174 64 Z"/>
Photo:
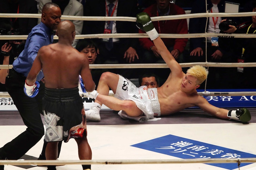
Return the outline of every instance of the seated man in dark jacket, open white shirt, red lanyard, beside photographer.
<path id="1" fill-rule="evenodd" d="M 205 0 L 197 0 L 192 6 L 191 14 L 205 13 L 206 11 L 209 13 L 225 12 L 225 0 L 207 0 L 207 5 Z M 232 18 L 227 17 L 227 19 Z M 208 22 L 206 17 L 190 18 L 189 33 L 204 33 L 205 31 L 207 33 L 219 33 L 221 20 L 221 17 L 209 17 Z M 217 37 L 190 38 L 189 48 L 190 56 L 187 57 L 186 62 L 205 62 L 206 55 L 208 62 L 233 62 L 232 54 L 218 45 Z M 223 76 L 222 73 L 229 72 L 229 68 L 210 67 L 209 72 L 206 88 L 226 88 L 227 76 Z"/>

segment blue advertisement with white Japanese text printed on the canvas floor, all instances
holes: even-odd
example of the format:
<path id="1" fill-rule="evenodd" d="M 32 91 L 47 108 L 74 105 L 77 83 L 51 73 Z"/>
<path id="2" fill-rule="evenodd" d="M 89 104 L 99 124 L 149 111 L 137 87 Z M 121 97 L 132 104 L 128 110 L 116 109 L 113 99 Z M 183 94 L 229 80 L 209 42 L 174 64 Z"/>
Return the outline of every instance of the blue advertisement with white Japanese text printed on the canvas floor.
<path id="1" fill-rule="evenodd" d="M 142 143 L 131 145 L 136 148 L 150 150 L 182 159 L 206 159 L 206 158 L 255 158 L 256 155 L 224 148 L 209 143 L 203 143 L 174 135 L 166 135 Z M 238 168 L 237 163 L 206 163 L 225 169 Z M 240 167 L 251 163 L 241 163 Z"/>

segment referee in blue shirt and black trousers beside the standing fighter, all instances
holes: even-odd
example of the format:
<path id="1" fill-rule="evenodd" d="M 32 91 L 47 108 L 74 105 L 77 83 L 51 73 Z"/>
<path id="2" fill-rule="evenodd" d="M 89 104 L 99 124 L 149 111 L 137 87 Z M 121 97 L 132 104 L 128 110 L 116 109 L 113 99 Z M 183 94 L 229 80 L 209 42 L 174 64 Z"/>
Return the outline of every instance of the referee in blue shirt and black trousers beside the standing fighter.
<path id="1" fill-rule="evenodd" d="M 44 126 L 40 113 L 42 114 L 42 97 L 44 95 L 44 75 L 41 71 L 37 76 L 40 83 L 39 93 L 34 98 L 25 95 L 23 88 L 29 70 L 37 56 L 39 48 L 53 42 L 53 31 L 57 29 L 61 21 L 61 10 L 54 3 L 47 3 L 42 8 L 42 20 L 36 25 L 26 40 L 25 48 L 19 57 L 13 62 L 13 68 L 6 77 L 5 86 L 17 107 L 26 131 L 21 133 L 11 142 L 0 148 L 0 159 L 15 160 L 23 156 L 44 135 Z M 2 169 L 4 166 L 0 166 Z"/>

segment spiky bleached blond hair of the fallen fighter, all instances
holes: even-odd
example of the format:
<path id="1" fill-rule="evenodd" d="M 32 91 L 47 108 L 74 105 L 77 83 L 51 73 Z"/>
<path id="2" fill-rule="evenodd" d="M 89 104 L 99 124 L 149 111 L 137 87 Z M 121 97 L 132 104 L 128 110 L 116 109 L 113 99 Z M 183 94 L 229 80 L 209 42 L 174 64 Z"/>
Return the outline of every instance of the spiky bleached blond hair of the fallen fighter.
<path id="1" fill-rule="evenodd" d="M 200 85 L 207 78 L 208 71 L 205 67 L 196 65 L 190 67 L 187 70 L 187 74 L 195 77 L 197 79 L 197 84 Z"/>

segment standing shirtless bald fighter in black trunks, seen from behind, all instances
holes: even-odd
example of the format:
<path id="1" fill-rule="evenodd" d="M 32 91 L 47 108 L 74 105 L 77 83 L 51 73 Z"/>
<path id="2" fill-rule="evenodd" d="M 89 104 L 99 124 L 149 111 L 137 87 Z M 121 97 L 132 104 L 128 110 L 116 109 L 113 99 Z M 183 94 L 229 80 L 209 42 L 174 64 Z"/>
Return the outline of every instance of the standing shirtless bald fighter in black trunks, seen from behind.
<path id="1" fill-rule="evenodd" d="M 56 34 L 59 37 L 58 43 L 39 49 L 24 83 L 24 92 L 29 97 L 36 97 L 39 90 L 37 75 L 41 69 L 44 70 L 45 95 L 42 109 L 45 117 L 45 141 L 48 142 L 45 150 L 46 159 L 56 160 L 58 143 L 63 140 L 68 142 L 70 138 L 75 138 L 80 160 L 91 159 L 83 101 L 78 93 L 79 75 L 86 80 L 86 91 L 95 89 L 89 61 L 85 59 L 85 54 L 72 47 L 75 25 L 71 21 L 61 22 Z M 56 65 L 59 61 L 61 64 Z M 91 169 L 91 165 L 82 167 L 84 170 Z M 56 170 L 56 166 L 48 166 L 48 170 Z"/>

